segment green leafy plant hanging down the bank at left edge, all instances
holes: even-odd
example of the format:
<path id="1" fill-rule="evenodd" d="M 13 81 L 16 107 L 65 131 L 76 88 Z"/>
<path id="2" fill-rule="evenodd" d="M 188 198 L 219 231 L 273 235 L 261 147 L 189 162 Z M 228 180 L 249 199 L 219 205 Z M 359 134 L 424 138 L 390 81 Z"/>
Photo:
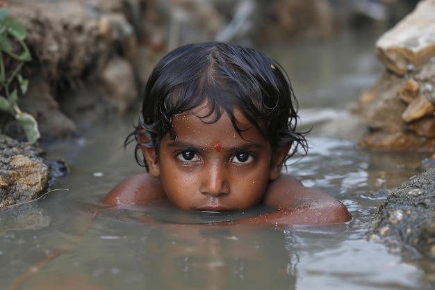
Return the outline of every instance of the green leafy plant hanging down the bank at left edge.
<path id="1" fill-rule="evenodd" d="M 13 81 L 15 81 L 23 95 L 27 92 L 28 80 L 23 79 L 22 75 L 19 74 L 24 63 L 32 60 L 28 47 L 24 43 L 25 38 L 26 29 L 24 26 L 14 19 L 10 19 L 8 9 L 0 8 L 0 92 L 6 95 L 6 97 L 0 95 L 0 110 L 12 114 L 24 130 L 28 143 L 35 144 L 40 138 L 38 122 L 32 115 L 19 109 L 17 88 L 10 91 Z M 10 69 L 10 72 L 6 72 L 5 54 L 14 60 L 10 62 L 12 66 L 15 65 Z"/>

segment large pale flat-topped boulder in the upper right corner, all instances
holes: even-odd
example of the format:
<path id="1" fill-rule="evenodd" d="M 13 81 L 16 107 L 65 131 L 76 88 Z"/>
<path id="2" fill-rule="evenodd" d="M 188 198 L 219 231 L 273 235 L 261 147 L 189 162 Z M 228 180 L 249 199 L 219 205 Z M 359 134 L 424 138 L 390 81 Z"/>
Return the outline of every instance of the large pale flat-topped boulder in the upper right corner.
<path id="1" fill-rule="evenodd" d="M 376 43 L 376 54 L 389 70 L 404 75 L 435 56 L 435 0 L 420 1 L 402 22 Z"/>

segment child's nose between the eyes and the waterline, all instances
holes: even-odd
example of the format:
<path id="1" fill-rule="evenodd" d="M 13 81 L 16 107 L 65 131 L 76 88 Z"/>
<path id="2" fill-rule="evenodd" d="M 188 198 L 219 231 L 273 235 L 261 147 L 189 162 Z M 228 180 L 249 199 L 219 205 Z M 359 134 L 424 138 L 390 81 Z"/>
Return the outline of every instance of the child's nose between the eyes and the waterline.
<path id="1" fill-rule="evenodd" d="M 211 164 L 204 168 L 202 173 L 201 188 L 202 194 L 219 196 L 229 193 L 229 184 L 227 180 L 227 170 L 224 164 Z"/>

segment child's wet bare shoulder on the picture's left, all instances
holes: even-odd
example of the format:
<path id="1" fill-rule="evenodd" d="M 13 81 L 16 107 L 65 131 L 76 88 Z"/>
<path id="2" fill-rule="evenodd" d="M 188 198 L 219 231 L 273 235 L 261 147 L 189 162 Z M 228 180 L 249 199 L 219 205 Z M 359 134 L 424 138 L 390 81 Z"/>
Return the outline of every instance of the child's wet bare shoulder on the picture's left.
<path id="1" fill-rule="evenodd" d="M 163 198 L 165 193 L 160 181 L 148 173 L 142 173 L 124 179 L 101 202 L 110 206 L 124 206 L 147 204 Z"/>

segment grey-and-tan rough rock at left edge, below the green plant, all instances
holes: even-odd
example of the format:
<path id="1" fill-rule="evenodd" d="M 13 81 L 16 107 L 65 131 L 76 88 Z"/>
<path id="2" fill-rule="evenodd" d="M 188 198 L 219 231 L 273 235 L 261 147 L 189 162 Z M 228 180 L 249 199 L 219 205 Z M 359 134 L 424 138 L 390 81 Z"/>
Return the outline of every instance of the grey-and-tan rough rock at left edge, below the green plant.
<path id="1" fill-rule="evenodd" d="M 0 135 L 0 207 L 39 198 L 48 188 L 49 170 L 34 147 Z"/>

